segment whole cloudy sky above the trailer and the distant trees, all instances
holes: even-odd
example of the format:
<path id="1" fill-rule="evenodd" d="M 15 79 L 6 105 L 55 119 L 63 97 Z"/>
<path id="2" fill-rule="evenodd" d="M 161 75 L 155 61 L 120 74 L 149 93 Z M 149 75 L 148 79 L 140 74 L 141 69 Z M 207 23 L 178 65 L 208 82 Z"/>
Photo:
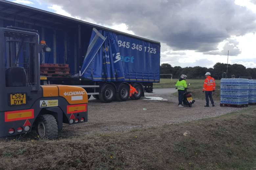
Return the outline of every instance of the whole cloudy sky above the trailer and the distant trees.
<path id="1" fill-rule="evenodd" d="M 256 67 L 256 0 L 9 0 L 161 42 L 161 63 Z"/>

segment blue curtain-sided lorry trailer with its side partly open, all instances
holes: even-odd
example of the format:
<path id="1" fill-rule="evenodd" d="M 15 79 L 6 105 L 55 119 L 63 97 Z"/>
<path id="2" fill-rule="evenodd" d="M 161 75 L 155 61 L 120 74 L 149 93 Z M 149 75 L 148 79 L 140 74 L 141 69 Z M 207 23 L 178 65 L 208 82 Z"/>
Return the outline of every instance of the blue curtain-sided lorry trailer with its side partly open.
<path id="1" fill-rule="evenodd" d="M 109 103 L 126 101 L 130 85 L 137 91 L 130 98 L 137 100 L 144 92 L 152 92 L 153 83 L 159 83 L 160 43 L 157 41 L 0 0 L 0 27 L 8 26 L 36 30 L 40 40 L 52 49 L 41 52 L 41 66 L 53 69 L 68 66 L 69 74 L 65 76 L 41 71 L 41 85 L 80 86 L 88 98 L 93 95 Z M 23 56 L 18 62 L 22 63 L 26 48 L 20 53 Z"/>

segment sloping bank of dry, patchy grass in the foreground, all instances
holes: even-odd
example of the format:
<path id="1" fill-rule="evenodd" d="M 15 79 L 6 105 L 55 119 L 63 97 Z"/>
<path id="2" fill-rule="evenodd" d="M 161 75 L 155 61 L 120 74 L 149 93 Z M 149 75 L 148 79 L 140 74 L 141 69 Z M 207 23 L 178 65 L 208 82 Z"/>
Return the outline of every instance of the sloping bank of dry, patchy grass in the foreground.
<path id="1" fill-rule="evenodd" d="M 255 170 L 256 106 L 189 123 L 0 142 L 0 169 Z"/>

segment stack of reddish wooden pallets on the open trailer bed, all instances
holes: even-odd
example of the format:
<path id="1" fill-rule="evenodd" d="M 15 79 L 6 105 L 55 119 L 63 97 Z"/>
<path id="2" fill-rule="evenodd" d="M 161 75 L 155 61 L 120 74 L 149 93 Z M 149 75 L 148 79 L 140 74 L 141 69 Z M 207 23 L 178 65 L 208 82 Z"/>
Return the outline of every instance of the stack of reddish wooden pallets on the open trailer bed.
<path id="1" fill-rule="evenodd" d="M 41 64 L 40 75 L 48 77 L 67 77 L 70 75 L 68 64 Z"/>

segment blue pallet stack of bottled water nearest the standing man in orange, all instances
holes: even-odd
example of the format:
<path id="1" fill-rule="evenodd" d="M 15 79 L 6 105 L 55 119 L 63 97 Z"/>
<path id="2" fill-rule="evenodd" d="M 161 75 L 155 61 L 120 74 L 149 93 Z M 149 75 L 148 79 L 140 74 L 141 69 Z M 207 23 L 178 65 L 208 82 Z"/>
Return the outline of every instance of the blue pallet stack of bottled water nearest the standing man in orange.
<path id="1" fill-rule="evenodd" d="M 249 80 L 221 79 L 221 107 L 248 107 Z"/>

